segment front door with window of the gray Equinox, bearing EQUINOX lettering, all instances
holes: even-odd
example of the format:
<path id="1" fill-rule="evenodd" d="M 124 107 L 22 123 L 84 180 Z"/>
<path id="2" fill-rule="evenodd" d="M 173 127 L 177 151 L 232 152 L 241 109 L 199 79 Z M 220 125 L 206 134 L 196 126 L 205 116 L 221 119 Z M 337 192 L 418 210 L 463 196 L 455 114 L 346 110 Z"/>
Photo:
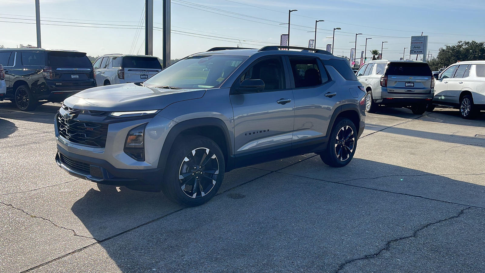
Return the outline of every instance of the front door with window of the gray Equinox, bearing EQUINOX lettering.
<path id="1" fill-rule="evenodd" d="M 261 79 L 261 92 L 235 93 L 230 100 L 234 112 L 236 167 L 284 157 L 291 150 L 294 99 L 287 83 L 281 56 L 256 60 L 238 78 Z"/>

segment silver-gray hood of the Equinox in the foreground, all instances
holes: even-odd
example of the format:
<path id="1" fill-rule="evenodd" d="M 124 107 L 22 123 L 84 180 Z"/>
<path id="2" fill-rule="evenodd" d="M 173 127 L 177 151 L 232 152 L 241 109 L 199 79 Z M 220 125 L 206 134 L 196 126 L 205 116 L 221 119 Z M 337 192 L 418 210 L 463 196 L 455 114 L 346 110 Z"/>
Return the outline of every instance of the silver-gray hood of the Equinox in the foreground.
<path id="1" fill-rule="evenodd" d="M 174 102 L 202 98 L 206 89 L 149 88 L 135 84 L 106 85 L 89 88 L 67 99 L 74 109 L 94 111 L 160 110 Z"/>

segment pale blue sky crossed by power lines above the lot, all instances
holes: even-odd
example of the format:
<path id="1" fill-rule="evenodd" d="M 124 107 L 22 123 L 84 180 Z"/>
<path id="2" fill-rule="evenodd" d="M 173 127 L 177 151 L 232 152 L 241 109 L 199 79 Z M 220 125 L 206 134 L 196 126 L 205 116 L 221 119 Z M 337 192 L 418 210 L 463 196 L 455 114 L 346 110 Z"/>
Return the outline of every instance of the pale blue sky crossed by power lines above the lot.
<path id="1" fill-rule="evenodd" d="M 0 45 L 36 45 L 34 0 L 0 0 Z M 42 47 L 86 52 L 145 53 L 145 0 L 40 0 Z M 171 0 L 171 58 L 212 47 L 261 48 L 288 33 L 294 46 L 308 46 L 318 23 L 317 48 L 332 43 L 335 55 L 349 56 L 357 36 L 357 57 L 365 49 L 383 58 L 403 57 L 412 35 L 429 36 L 428 50 L 460 40 L 485 40 L 483 0 Z M 281 24 L 281 25 L 280 25 Z M 162 0 L 154 0 L 153 54 L 162 57 Z M 409 49 L 405 49 L 405 59 Z M 412 59 L 416 56 L 413 55 Z"/>

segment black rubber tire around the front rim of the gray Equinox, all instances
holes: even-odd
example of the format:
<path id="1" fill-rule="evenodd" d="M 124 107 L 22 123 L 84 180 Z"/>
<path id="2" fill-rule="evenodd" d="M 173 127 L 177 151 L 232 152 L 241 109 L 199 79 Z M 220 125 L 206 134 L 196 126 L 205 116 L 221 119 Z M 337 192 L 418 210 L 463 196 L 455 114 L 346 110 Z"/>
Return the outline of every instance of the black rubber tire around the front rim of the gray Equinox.
<path id="1" fill-rule="evenodd" d="M 179 186 L 179 171 L 185 156 L 196 148 L 209 148 L 216 157 L 219 164 L 219 175 L 217 175 L 216 184 L 214 187 L 204 195 L 203 197 L 191 198 L 187 196 Z M 163 175 L 162 191 L 167 198 L 175 203 L 183 206 L 197 206 L 202 205 L 212 199 L 219 188 L 221 187 L 224 179 L 225 172 L 225 160 L 219 146 L 210 138 L 204 136 L 191 136 L 179 138 L 169 153 L 167 165 Z"/>

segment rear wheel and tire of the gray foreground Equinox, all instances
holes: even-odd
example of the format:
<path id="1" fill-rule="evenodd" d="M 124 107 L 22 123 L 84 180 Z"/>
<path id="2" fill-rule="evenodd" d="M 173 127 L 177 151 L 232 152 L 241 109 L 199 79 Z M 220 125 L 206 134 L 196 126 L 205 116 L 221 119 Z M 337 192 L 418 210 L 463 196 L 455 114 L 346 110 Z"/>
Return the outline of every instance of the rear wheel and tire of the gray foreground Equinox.
<path id="1" fill-rule="evenodd" d="M 345 118 L 337 119 L 330 132 L 327 149 L 320 154 L 323 163 L 337 168 L 349 164 L 356 153 L 356 136 L 357 130 L 354 122 Z"/>

